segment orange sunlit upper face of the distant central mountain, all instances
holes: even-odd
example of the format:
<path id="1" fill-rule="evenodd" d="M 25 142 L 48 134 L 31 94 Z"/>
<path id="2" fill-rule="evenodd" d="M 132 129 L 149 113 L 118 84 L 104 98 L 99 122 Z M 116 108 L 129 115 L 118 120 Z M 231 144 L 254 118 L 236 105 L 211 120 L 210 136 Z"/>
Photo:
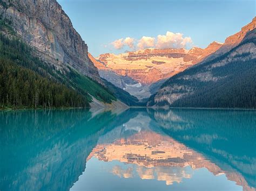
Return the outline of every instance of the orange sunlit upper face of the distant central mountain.
<path id="1" fill-rule="evenodd" d="M 109 70 L 121 76 L 129 76 L 145 85 L 166 79 L 193 66 L 220 46 L 220 43 L 214 42 L 205 49 L 148 48 L 118 55 L 101 54 L 92 61 L 99 70 Z"/>

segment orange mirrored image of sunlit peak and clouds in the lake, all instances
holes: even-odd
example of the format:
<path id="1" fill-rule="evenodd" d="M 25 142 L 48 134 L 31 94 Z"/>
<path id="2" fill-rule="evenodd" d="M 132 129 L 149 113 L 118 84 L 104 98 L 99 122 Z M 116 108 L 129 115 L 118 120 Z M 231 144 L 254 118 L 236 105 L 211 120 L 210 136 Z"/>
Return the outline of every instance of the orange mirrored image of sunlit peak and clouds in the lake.
<path id="1" fill-rule="evenodd" d="M 235 181 L 244 190 L 253 190 L 239 173 L 223 171 L 204 155 L 173 138 L 148 130 L 137 131 L 128 138 L 98 144 L 87 157 L 87 161 L 95 157 L 105 162 L 118 160 L 125 164 L 136 164 L 129 168 L 116 165 L 111 173 L 120 178 L 133 178 L 136 172 L 141 179 L 165 181 L 166 185 L 192 178 L 191 169 L 207 168 L 214 175 L 226 174 L 228 180 Z"/>

